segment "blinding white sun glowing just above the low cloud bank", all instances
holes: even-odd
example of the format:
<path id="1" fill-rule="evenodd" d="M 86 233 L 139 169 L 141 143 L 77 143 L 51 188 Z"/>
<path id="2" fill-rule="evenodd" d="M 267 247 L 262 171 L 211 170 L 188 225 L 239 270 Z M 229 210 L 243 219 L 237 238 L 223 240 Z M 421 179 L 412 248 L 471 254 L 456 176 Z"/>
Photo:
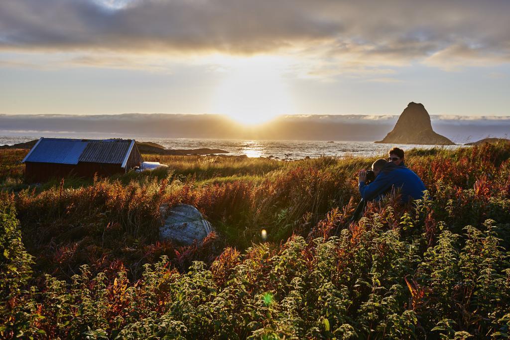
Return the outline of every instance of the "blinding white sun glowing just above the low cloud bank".
<path id="1" fill-rule="evenodd" d="M 222 64 L 224 78 L 217 87 L 214 112 L 253 125 L 292 111 L 283 60 L 228 58 Z"/>

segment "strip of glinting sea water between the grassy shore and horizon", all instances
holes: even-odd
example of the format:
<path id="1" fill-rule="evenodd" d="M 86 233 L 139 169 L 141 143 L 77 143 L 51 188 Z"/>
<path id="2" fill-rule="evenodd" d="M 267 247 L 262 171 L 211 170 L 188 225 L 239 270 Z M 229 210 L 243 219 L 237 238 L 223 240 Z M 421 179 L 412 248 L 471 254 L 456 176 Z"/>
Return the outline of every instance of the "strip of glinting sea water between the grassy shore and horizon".
<path id="1" fill-rule="evenodd" d="M 0 145 L 13 145 L 39 139 L 41 136 L 0 136 Z M 44 134 L 42 137 L 58 138 L 83 138 L 103 139 L 118 138 L 119 136 L 104 136 L 98 134 L 90 135 L 51 135 Z M 269 157 L 281 160 L 297 160 L 309 156 L 377 156 L 384 155 L 394 146 L 403 150 L 414 147 L 431 148 L 433 145 L 395 145 L 375 144 L 372 142 L 348 142 L 348 141 L 280 141 L 280 140 L 220 140 L 220 139 L 182 139 L 182 138 L 147 138 L 136 136 L 123 136 L 124 138 L 135 138 L 140 142 L 155 142 L 167 149 L 198 149 L 210 148 L 221 149 L 231 155 L 245 154 L 248 157 Z M 448 149 L 460 147 L 458 145 L 440 146 Z"/>

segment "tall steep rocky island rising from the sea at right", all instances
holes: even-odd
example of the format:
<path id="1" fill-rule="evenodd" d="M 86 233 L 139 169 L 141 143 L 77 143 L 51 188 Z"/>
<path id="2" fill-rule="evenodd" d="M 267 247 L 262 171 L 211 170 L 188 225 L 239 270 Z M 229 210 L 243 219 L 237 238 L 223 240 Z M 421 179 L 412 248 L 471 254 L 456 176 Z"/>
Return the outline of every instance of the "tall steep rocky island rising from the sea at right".
<path id="1" fill-rule="evenodd" d="M 410 102 L 393 130 L 382 141 L 389 144 L 455 145 L 432 130 L 430 116 L 421 103 Z"/>

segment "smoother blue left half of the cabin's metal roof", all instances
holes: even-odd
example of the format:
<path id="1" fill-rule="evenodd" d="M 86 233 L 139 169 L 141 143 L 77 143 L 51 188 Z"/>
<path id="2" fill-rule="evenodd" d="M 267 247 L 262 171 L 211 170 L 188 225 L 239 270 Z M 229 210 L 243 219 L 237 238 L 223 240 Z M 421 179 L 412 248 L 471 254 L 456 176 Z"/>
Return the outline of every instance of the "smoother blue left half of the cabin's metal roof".
<path id="1" fill-rule="evenodd" d="M 23 162 L 78 164 L 86 146 L 81 139 L 41 138 Z"/>

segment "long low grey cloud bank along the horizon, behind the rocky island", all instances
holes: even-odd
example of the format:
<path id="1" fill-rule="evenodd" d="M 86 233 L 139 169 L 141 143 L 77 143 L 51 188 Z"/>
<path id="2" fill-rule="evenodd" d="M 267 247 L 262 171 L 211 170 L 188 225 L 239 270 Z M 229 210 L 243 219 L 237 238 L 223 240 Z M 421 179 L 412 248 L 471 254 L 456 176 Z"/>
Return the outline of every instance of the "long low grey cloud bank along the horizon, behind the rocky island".
<path id="1" fill-rule="evenodd" d="M 376 141 L 390 132 L 397 118 L 290 115 L 258 126 L 243 126 L 219 115 L 0 115 L 0 135 Z M 510 117 L 432 115 L 431 120 L 437 133 L 459 144 L 509 137 Z"/>

